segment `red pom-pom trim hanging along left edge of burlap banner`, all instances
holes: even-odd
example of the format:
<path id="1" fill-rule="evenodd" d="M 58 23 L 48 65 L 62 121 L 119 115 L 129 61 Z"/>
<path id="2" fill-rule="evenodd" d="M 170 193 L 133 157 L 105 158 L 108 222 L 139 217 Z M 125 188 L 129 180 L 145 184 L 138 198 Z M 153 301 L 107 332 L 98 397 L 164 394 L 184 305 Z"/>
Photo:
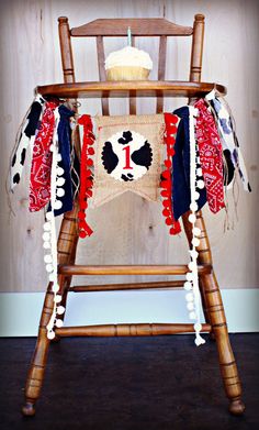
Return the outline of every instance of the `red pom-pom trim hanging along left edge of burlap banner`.
<path id="1" fill-rule="evenodd" d="M 80 168 L 80 189 L 79 189 L 79 212 L 78 227 L 79 236 L 90 236 L 93 231 L 86 221 L 86 209 L 88 208 L 87 200 L 92 197 L 92 172 L 90 167 L 93 161 L 90 156 L 94 155 L 92 147 L 94 143 L 94 134 L 92 132 L 92 120 L 90 115 L 81 115 L 78 123 L 83 126 L 82 151 L 81 151 L 81 168 Z"/>

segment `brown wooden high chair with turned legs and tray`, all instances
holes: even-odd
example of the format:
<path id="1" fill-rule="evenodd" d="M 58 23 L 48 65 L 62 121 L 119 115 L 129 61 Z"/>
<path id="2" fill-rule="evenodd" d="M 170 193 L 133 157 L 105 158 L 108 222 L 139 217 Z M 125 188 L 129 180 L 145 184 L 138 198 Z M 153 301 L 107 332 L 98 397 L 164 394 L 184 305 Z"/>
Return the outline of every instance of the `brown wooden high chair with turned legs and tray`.
<path id="1" fill-rule="evenodd" d="M 164 97 L 204 97 L 213 88 L 226 93 L 225 87 L 214 84 L 201 82 L 204 16 L 196 14 L 193 27 L 176 25 L 165 19 L 103 19 L 95 20 L 79 27 L 69 29 L 68 19 L 59 18 L 59 40 L 65 84 L 38 87 L 37 91 L 43 96 L 56 96 L 60 98 L 98 97 L 102 99 L 102 112 L 109 114 L 110 97 L 128 97 L 130 113 L 136 113 L 136 97 L 157 97 L 157 112 L 162 112 Z M 104 36 L 126 36 L 131 26 L 134 38 L 136 36 L 159 36 L 158 80 L 148 81 L 106 81 L 104 70 Z M 191 66 L 189 81 L 165 81 L 166 51 L 168 36 L 192 36 Z M 71 51 L 71 37 L 95 37 L 100 81 L 76 82 L 74 73 L 74 59 Z M 77 151 L 80 152 L 79 140 Z M 75 265 L 78 243 L 77 229 L 78 203 L 71 212 L 67 212 L 61 222 L 58 238 L 58 279 L 61 305 L 66 305 L 68 291 L 108 291 L 124 289 L 145 289 L 179 287 L 183 280 L 154 282 L 142 284 L 112 284 L 70 286 L 72 275 L 185 275 L 188 265 L 108 265 L 88 266 Z M 183 228 L 189 243 L 192 239 L 192 227 L 188 221 L 189 213 L 182 217 Z M 199 251 L 199 279 L 203 301 L 205 323 L 202 331 L 210 332 L 218 351 L 218 360 L 226 396 L 229 399 L 229 411 L 235 415 L 243 414 L 245 406 L 241 401 L 241 387 L 237 373 L 235 357 L 228 339 L 226 318 L 224 313 L 221 293 L 215 273 L 213 271 L 212 255 L 202 212 L 198 212 L 196 227 L 202 231 Z M 25 405 L 22 409 L 25 416 L 35 414 L 35 403 L 40 397 L 47 361 L 49 339 L 46 335 L 46 326 L 53 309 L 52 283 L 48 285 L 43 306 L 38 338 L 29 371 Z M 63 316 L 64 317 L 64 316 Z M 60 318 L 60 317 L 59 317 Z M 159 335 L 193 332 L 192 323 L 128 323 L 105 324 L 87 327 L 56 328 L 56 339 L 61 337 L 115 337 L 115 335 Z M 195 348 L 195 346 L 193 346 Z M 204 346 L 205 348 L 205 346 Z M 194 352 L 195 353 L 195 352 Z"/>

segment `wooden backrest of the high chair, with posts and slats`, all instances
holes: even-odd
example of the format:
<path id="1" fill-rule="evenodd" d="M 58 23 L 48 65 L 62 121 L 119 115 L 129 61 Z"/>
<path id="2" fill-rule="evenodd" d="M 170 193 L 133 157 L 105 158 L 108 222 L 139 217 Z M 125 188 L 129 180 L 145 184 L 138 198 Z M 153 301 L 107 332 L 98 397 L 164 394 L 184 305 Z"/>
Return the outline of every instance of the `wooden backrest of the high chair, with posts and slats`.
<path id="1" fill-rule="evenodd" d="M 100 81 L 106 80 L 104 68 L 104 37 L 127 36 L 127 29 L 131 27 L 132 44 L 135 45 L 135 37 L 138 36 L 159 36 L 158 53 L 158 80 L 165 80 L 166 52 L 168 36 L 192 36 L 192 49 L 190 60 L 190 81 L 201 81 L 202 52 L 204 35 L 204 16 L 196 14 L 194 16 L 193 27 L 173 24 L 164 18 L 150 19 L 100 19 L 88 24 L 69 29 L 68 19 L 60 16 L 59 41 L 61 51 L 61 62 L 64 71 L 64 81 L 66 84 L 76 82 L 74 57 L 71 49 L 71 37 L 95 37 L 97 54 Z M 130 113 L 136 113 L 136 98 L 134 91 L 130 93 Z M 157 113 L 162 112 L 162 93 L 157 92 Z M 109 114 L 109 100 L 102 98 L 102 114 Z"/>

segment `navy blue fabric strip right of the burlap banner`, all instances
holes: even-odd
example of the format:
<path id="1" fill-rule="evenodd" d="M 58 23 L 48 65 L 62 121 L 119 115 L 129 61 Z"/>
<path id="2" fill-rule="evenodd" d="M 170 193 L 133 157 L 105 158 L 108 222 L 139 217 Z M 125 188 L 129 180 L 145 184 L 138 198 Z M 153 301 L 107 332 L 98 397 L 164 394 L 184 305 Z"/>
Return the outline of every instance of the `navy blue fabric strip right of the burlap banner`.
<path id="1" fill-rule="evenodd" d="M 174 143 L 176 154 L 172 157 L 172 209 L 174 219 L 178 220 L 190 209 L 191 203 L 189 109 L 183 107 L 173 113 L 181 118 Z M 196 203 L 200 210 L 206 202 L 206 190 L 199 189 L 199 192 Z"/>

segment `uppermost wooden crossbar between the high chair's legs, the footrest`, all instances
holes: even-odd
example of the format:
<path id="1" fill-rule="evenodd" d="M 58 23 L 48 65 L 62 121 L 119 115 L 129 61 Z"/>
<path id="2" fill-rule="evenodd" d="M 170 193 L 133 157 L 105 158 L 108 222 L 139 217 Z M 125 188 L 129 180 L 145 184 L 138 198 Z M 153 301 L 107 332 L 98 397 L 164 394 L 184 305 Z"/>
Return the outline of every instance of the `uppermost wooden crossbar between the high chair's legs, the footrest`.
<path id="1" fill-rule="evenodd" d="M 210 264 L 199 265 L 199 274 L 209 274 L 212 271 Z M 189 271 L 187 264 L 182 265 L 127 265 L 127 266 L 80 266 L 59 265 L 61 275 L 185 275 Z"/>

